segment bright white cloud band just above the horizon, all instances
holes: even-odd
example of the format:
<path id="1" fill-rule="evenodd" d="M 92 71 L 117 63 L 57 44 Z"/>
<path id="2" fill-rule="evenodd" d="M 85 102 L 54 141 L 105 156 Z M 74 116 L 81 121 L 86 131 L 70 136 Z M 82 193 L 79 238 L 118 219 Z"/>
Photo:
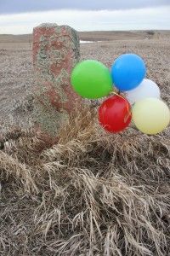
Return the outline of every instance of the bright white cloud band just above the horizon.
<path id="1" fill-rule="evenodd" d="M 54 10 L 0 15 L 0 33 L 31 33 L 34 26 L 52 22 L 78 31 L 170 29 L 170 7 L 130 10 Z"/>

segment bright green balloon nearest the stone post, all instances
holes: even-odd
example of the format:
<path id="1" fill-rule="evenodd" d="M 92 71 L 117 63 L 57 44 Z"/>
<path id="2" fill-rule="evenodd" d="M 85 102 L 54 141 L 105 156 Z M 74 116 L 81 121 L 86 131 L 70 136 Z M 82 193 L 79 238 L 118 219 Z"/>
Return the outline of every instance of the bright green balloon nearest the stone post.
<path id="1" fill-rule="evenodd" d="M 77 64 L 71 73 L 71 84 L 78 95 L 88 99 L 108 96 L 113 90 L 109 69 L 94 60 Z"/>

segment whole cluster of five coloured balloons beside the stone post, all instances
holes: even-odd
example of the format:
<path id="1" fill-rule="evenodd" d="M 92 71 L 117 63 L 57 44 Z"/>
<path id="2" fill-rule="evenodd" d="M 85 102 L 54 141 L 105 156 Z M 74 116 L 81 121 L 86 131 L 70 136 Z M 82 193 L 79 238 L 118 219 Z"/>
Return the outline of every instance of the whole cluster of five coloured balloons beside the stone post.
<path id="1" fill-rule="evenodd" d="M 71 84 L 78 95 L 88 99 L 113 92 L 99 107 L 99 123 L 106 131 L 122 131 L 133 119 L 139 131 L 151 135 L 167 127 L 170 111 L 161 101 L 159 87 L 144 79 L 145 75 L 144 60 L 139 55 L 125 54 L 116 59 L 111 71 L 99 61 L 78 63 L 71 73 Z"/>

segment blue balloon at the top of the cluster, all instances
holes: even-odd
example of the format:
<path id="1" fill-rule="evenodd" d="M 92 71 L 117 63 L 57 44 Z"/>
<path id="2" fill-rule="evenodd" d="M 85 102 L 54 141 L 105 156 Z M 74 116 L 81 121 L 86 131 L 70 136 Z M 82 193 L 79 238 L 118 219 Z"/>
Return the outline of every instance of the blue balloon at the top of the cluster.
<path id="1" fill-rule="evenodd" d="M 111 67 L 113 83 L 118 90 L 132 90 L 137 87 L 146 74 L 146 67 L 139 55 L 119 56 Z"/>

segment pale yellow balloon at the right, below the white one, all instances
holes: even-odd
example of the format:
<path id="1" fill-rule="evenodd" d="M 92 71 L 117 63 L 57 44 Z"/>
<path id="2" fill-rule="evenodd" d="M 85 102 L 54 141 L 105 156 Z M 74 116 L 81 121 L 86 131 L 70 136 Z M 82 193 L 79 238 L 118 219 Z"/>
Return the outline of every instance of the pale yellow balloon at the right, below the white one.
<path id="1" fill-rule="evenodd" d="M 156 98 L 145 98 L 133 106 L 133 122 L 139 131 L 156 134 L 170 122 L 170 110 L 165 102 Z"/>

